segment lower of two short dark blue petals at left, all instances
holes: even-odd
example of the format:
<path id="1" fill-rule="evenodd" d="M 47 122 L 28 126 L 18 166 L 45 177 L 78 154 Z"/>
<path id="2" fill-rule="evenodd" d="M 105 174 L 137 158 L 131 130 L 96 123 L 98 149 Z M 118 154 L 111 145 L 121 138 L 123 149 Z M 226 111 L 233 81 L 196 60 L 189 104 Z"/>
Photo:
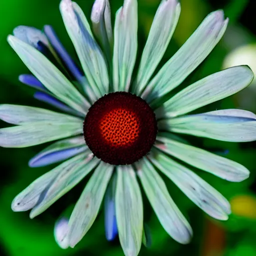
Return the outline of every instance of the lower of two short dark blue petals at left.
<path id="1" fill-rule="evenodd" d="M 72 113 L 75 115 L 77 115 L 77 114 L 82 115 L 81 113 L 75 111 L 71 107 L 67 106 L 66 104 L 62 103 L 61 101 L 59 101 L 58 99 L 56 99 L 55 97 L 53 97 L 47 93 L 44 93 L 41 91 L 36 91 L 33 96 L 34 96 L 34 98 L 36 98 L 40 101 L 46 102 L 52 106 L 55 106 L 56 108 L 58 108 L 64 112 Z"/>

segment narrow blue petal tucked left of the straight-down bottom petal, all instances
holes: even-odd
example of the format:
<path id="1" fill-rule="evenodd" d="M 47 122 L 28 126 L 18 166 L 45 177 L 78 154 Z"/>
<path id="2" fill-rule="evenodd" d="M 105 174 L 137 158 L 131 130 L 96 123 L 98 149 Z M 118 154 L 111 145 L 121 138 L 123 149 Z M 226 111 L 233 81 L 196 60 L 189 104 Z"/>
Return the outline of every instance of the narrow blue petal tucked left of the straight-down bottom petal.
<path id="1" fill-rule="evenodd" d="M 117 225 L 115 217 L 115 196 L 116 190 L 116 174 L 114 173 L 109 181 L 105 199 L 104 199 L 104 222 L 105 222 L 105 236 L 108 241 L 111 241 L 117 235 Z"/>

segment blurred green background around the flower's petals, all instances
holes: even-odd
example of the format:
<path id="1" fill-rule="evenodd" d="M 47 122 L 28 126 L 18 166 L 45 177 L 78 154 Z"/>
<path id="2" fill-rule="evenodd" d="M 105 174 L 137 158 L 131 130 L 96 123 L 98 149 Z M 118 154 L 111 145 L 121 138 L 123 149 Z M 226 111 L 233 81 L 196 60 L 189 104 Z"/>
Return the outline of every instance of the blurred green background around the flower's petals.
<path id="1" fill-rule="evenodd" d="M 164 55 L 166 61 L 193 32 L 206 14 L 212 10 L 224 9 L 230 18 L 228 29 L 207 59 L 193 72 L 182 86 L 218 71 L 224 67 L 249 64 L 256 66 L 255 0 L 180 0 L 181 16 L 171 43 Z M 93 0 L 77 0 L 87 17 Z M 154 12 L 160 0 L 138 0 L 139 50 L 141 51 L 149 31 Z M 1 0 L 0 4 L 0 102 L 48 107 L 33 99 L 34 90 L 22 85 L 17 77 L 28 70 L 6 42 L 7 34 L 17 25 L 42 28 L 51 24 L 69 53 L 76 59 L 58 10 L 59 0 Z M 110 0 L 112 18 L 121 0 Z M 256 82 L 229 97 L 200 109 L 246 108 L 256 112 Z M 49 107 L 50 108 L 50 107 Z M 0 122 L 1 127 L 7 126 Z M 229 143 L 187 137 L 191 143 L 212 152 L 224 154 L 250 169 L 249 179 L 241 183 L 230 183 L 203 171 L 195 170 L 207 182 L 226 196 L 233 213 L 227 221 L 215 221 L 193 205 L 170 181 L 168 189 L 181 211 L 189 219 L 194 236 L 190 244 L 181 245 L 171 239 L 160 226 L 156 216 L 145 201 L 145 221 L 148 224 L 152 245 L 142 246 L 139 255 L 202 255 L 202 256 L 254 256 L 256 255 L 256 147 L 254 142 Z M 123 255 L 118 238 L 107 242 L 104 237 L 103 214 L 99 214 L 92 228 L 74 248 L 62 250 L 54 241 L 53 226 L 59 215 L 70 208 L 78 199 L 86 183 L 82 181 L 54 205 L 33 220 L 27 212 L 12 212 L 13 197 L 36 177 L 51 168 L 29 168 L 28 160 L 45 145 L 30 148 L 0 148 L 0 255 Z"/>

